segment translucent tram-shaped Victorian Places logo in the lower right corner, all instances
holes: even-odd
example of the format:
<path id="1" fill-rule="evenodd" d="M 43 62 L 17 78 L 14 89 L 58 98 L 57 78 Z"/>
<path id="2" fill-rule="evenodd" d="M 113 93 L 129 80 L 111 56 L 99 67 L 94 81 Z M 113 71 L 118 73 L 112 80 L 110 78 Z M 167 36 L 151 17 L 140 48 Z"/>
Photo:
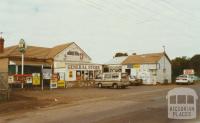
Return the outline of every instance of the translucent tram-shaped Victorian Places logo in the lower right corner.
<path id="1" fill-rule="evenodd" d="M 198 96 L 191 88 L 174 88 L 167 94 L 169 119 L 195 119 Z"/>

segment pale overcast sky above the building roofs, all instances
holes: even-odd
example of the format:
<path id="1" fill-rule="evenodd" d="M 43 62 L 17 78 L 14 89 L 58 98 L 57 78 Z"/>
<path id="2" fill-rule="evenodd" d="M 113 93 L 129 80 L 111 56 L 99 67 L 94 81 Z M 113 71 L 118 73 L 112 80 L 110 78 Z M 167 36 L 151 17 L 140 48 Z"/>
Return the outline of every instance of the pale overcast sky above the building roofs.
<path id="1" fill-rule="evenodd" d="M 93 62 L 116 52 L 200 53 L 200 0 L 0 0 L 6 46 L 21 38 L 52 47 L 76 42 Z"/>

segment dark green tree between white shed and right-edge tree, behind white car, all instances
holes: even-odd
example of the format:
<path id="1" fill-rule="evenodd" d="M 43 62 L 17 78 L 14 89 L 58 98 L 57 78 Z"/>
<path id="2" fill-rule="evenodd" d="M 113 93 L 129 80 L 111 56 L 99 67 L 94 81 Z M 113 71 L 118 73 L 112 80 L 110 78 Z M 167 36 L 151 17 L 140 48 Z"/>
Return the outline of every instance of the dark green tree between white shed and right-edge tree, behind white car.
<path id="1" fill-rule="evenodd" d="M 185 56 L 183 57 L 176 57 L 172 60 L 172 79 L 175 80 L 175 78 L 181 74 L 183 74 L 184 69 L 191 69 L 190 67 L 190 58 L 187 58 Z"/>

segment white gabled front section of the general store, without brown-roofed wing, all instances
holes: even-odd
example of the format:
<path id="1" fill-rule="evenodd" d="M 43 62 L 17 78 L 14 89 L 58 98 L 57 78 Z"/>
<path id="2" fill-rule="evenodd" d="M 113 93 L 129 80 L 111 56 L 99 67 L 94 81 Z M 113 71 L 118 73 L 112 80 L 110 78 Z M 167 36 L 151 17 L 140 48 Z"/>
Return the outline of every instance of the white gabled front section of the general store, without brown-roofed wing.
<path id="1" fill-rule="evenodd" d="M 91 58 L 74 42 L 63 45 L 54 57 L 54 73 L 59 73 L 61 80 L 91 80 L 101 71 L 102 65 L 91 63 Z"/>

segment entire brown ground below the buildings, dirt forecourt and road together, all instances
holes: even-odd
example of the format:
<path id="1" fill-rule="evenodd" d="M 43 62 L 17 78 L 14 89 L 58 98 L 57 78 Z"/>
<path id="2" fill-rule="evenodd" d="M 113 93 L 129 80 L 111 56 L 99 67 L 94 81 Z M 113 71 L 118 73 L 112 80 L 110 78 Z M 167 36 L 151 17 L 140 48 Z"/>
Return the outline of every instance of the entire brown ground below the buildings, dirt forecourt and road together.
<path id="1" fill-rule="evenodd" d="M 171 120 L 167 118 L 167 92 L 187 86 L 199 93 L 199 85 L 16 89 L 12 90 L 10 101 L 0 103 L 0 122 L 81 123 L 84 119 L 92 123 L 168 123 Z"/>

